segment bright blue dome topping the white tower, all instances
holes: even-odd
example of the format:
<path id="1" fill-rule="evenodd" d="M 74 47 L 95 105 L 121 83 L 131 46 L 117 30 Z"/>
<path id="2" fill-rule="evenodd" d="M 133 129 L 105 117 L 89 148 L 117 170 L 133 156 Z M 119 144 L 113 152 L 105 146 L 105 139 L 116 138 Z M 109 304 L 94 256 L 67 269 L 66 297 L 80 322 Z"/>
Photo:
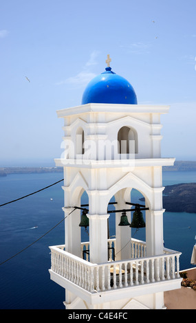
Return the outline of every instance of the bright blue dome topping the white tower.
<path id="1" fill-rule="evenodd" d="M 138 101 L 131 84 L 107 67 L 87 85 L 82 104 L 87 103 L 138 104 Z"/>

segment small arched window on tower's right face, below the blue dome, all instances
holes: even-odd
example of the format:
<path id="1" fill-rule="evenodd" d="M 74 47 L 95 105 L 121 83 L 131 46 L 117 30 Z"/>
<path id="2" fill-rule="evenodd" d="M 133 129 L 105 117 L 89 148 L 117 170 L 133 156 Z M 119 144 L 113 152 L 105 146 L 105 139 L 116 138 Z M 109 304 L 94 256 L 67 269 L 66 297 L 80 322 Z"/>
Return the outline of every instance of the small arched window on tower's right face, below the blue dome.
<path id="1" fill-rule="evenodd" d="M 138 153 L 138 133 L 129 126 L 122 126 L 118 131 L 118 153 Z"/>

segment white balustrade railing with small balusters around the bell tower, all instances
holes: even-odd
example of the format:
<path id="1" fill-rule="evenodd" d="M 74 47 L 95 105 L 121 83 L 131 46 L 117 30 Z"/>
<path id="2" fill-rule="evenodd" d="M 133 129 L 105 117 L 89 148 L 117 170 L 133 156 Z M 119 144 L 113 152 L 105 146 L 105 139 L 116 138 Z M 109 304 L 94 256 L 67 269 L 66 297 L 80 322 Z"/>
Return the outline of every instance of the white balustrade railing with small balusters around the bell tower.
<path id="1" fill-rule="evenodd" d="M 115 239 L 109 240 L 109 245 L 112 243 L 115 245 Z M 84 246 L 88 249 L 89 243 L 83 243 Z M 131 241 L 134 258 L 111 261 L 110 256 L 108 263 L 99 265 L 87 261 L 88 254 L 87 260 L 69 254 L 65 245 L 50 249 L 52 271 L 91 293 L 179 278 L 181 253 L 164 249 L 162 255 L 146 257 L 145 243 L 136 239 Z"/>

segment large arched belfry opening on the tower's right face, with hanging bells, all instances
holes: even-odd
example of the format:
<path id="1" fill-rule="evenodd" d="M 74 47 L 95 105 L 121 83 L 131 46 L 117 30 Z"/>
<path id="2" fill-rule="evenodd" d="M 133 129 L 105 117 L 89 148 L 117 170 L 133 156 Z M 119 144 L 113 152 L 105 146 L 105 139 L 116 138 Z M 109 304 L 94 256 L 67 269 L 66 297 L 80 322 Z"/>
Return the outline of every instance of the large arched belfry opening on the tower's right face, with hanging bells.
<path id="1" fill-rule="evenodd" d="M 113 204 L 111 204 L 111 202 L 113 202 Z M 130 203 L 133 203 L 133 205 L 130 205 Z M 145 227 L 130 227 L 130 225 L 133 225 L 133 223 L 135 223 L 133 221 L 136 216 L 134 204 L 144 205 L 143 207 L 140 207 L 140 212 L 142 212 L 140 219 L 144 221 L 145 225 L 146 211 L 142 210 L 142 208 L 148 208 L 148 205 L 146 205 L 145 197 L 140 191 L 134 188 L 124 188 L 116 192 L 109 201 L 108 211 L 111 211 L 111 213 L 109 212 L 110 216 L 108 222 L 108 245 L 111 249 L 109 250 L 109 260 L 123 260 L 127 258 L 134 258 L 134 239 L 136 239 L 136 241 L 141 241 L 141 248 L 144 248 L 142 241 L 146 241 Z M 126 225 L 122 225 L 122 210 L 126 210 L 126 221 L 128 223 Z M 136 252 L 138 251 L 136 250 Z M 144 252 L 144 250 L 142 252 Z"/>

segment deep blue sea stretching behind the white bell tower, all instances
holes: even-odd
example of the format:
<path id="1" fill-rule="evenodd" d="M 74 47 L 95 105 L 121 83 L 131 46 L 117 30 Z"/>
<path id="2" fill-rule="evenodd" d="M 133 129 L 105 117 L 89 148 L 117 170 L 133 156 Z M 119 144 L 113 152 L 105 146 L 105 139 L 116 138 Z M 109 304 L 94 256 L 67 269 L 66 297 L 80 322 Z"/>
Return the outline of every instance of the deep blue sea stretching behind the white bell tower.
<path id="1" fill-rule="evenodd" d="M 63 172 L 11 174 L 0 177 L 0 205 L 50 186 Z M 196 171 L 164 171 L 163 186 L 195 183 Z M 63 182 L 0 207 L 0 309 L 65 309 L 65 289 L 50 280 L 50 245 L 64 244 Z M 137 191 L 131 201 L 141 203 Z M 87 203 L 84 193 L 81 203 Z M 112 209 L 112 206 L 111 206 Z M 190 264 L 196 214 L 164 212 L 164 246 L 182 252 L 180 270 Z M 60 223 L 61 222 L 61 223 Z M 60 224 L 58 224 L 60 223 Z M 89 236 L 83 228 L 82 241 Z M 133 229 L 132 229 L 133 230 Z M 115 216 L 109 217 L 115 235 Z M 145 241 L 145 229 L 133 230 Z"/>

